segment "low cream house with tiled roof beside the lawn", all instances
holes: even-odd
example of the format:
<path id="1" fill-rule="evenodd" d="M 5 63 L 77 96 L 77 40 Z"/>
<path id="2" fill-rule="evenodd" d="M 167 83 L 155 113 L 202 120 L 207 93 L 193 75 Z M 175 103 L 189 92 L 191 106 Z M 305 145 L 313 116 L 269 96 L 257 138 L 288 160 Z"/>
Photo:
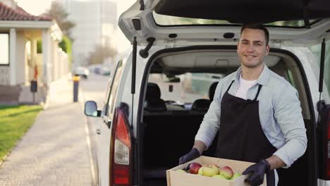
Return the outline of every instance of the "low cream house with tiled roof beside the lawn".
<path id="1" fill-rule="evenodd" d="M 51 83 L 68 74 L 62 33 L 46 16 L 32 16 L 12 0 L 0 0 L 0 104 L 47 101 Z M 37 52 L 42 40 L 42 52 Z M 37 92 L 30 91 L 37 80 Z"/>

